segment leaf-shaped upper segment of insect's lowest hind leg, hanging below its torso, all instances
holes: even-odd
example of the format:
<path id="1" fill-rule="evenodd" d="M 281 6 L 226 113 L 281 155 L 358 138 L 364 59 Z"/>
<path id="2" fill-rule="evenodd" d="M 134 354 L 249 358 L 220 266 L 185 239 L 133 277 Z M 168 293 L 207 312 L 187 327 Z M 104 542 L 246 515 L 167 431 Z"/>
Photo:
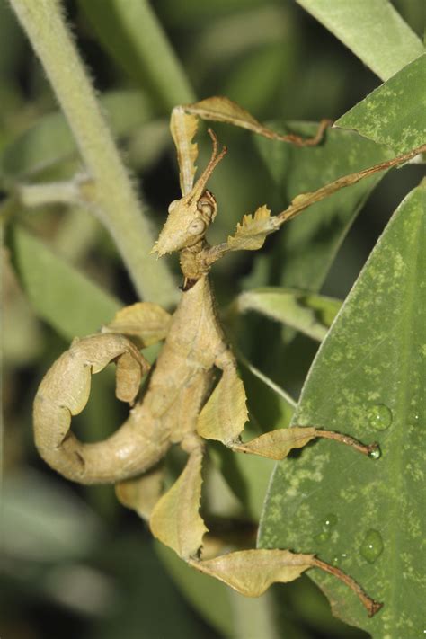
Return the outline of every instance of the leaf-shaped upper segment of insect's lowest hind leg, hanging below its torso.
<path id="1" fill-rule="evenodd" d="M 197 555 L 207 532 L 199 514 L 202 450 L 193 450 L 182 475 L 155 505 L 149 519 L 151 531 L 182 559 Z"/>

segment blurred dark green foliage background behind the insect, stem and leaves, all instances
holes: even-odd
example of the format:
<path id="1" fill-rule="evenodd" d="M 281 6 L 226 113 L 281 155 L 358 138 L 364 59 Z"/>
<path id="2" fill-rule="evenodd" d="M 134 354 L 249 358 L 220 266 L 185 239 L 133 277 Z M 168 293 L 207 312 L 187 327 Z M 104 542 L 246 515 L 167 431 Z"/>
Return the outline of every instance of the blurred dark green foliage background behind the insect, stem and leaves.
<path id="1" fill-rule="evenodd" d="M 65 4 L 96 89 L 100 96 L 110 96 L 105 109 L 119 134 L 123 157 L 144 194 L 152 224 L 159 228 L 168 203 L 179 194 L 168 133 L 168 114 L 174 102 L 146 69 L 128 64 L 129 52 L 123 49 L 108 11 L 102 23 L 102 6 L 108 1 Z M 394 4 L 422 36 L 422 2 L 395 0 Z M 258 120 L 337 119 L 380 84 L 349 49 L 289 0 L 158 0 L 153 7 L 182 62 L 193 96 L 226 95 Z M 58 121 L 45 117 L 57 111 L 57 105 L 4 0 L 0 0 L 0 43 L 0 151 L 13 166 L 17 141 L 25 131 L 45 122 L 40 139 L 32 147 L 25 146 L 29 156 L 18 153 L 19 162 L 33 166 L 33 157 L 38 159 L 36 170 L 29 173 L 33 182 L 71 175 L 78 169 L 72 148 L 43 165 L 43 158 L 49 156 L 43 144 L 49 142 L 49 136 L 59 135 Z M 187 94 L 179 91 L 176 102 L 187 101 Z M 229 153 L 224 169 L 215 173 L 209 187 L 219 206 L 213 242 L 226 237 L 244 213 L 262 203 L 267 202 L 274 211 L 287 203 L 253 138 L 223 125 L 214 128 Z M 208 155 L 209 142 L 201 139 L 199 166 Z M 419 182 L 420 174 L 420 168 L 411 167 L 380 182 L 342 244 L 324 283 L 325 294 L 347 295 L 388 217 Z M 5 191 L 7 175 L 2 179 Z M 13 216 L 123 303 L 136 301 L 111 238 L 86 212 L 55 206 L 20 210 Z M 145 524 L 117 503 L 111 487 L 69 484 L 40 460 L 32 440 L 31 403 L 44 372 L 69 340 L 52 324 L 41 321 L 25 297 L 14 268 L 15 247 L 11 224 L 5 230 L 2 256 L 2 638 L 367 636 L 333 619 L 327 601 L 306 577 L 272 589 L 259 603 L 244 601 L 209 580 L 195 580 L 171 555 L 158 550 Z M 220 262 L 213 279 L 221 305 L 225 307 L 248 286 L 280 283 L 281 260 L 285 255 L 274 237 L 262 256 L 243 254 Z M 171 267 L 177 273 L 173 260 Z M 80 303 L 75 299 L 76 308 Z M 285 350 L 292 365 L 283 368 L 279 358 L 270 357 L 282 329 L 252 316 L 244 317 L 243 323 L 238 331 L 245 352 L 297 396 L 317 344 L 298 336 Z M 267 337 L 257 339 L 259 331 Z M 297 361 L 293 362 L 294 352 Z M 258 403 L 262 405 L 262 398 Z M 94 379 L 93 395 L 75 420 L 76 430 L 85 440 L 103 439 L 124 414 L 113 398 L 111 375 L 106 371 Z M 213 462 L 214 456 L 213 452 Z M 263 466 L 263 473 L 269 473 L 271 467 Z M 217 497 L 221 490 L 223 498 Z M 216 506 L 227 509 L 249 531 L 255 525 L 254 513 L 243 514 L 214 471 L 208 497 L 211 510 Z"/>

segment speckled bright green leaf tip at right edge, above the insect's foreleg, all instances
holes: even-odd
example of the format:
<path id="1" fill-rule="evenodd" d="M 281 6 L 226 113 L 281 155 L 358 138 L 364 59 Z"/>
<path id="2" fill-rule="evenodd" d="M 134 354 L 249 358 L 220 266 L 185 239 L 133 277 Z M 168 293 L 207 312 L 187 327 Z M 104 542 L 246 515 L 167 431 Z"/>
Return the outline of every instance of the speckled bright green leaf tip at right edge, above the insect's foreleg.
<path id="1" fill-rule="evenodd" d="M 426 136 L 426 54 L 407 65 L 356 104 L 335 126 L 403 154 L 422 145 Z"/>

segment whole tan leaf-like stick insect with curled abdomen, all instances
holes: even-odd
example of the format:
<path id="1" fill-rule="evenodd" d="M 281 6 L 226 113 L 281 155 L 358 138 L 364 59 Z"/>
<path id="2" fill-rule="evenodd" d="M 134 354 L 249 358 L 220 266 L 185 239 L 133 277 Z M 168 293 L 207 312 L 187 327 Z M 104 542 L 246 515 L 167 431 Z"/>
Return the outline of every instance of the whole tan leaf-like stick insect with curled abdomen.
<path id="1" fill-rule="evenodd" d="M 238 592 L 257 597 L 273 582 L 292 581 L 302 572 L 318 568 L 345 582 L 372 616 L 382 604 L 371 599 L 349 575 L 315 555 L 296 554 L 288 549 L 241 550 L 212 559 L 203 559 L 200 554 L 207 532 L 199 513 L 201 466 L 210 439 L 237 453 L 272 459 L 282 459 L 291 449 L 321 438 L 348 445 L 354 454 L 377 454 L 376 444 L 364 445 L 319 426 L 294 426 L 250 441 L 242 439 L 247 421 L 244 385 L 218 319 L 209 271 L 226 253 L 262 248 L 267 235 L 311 204 L 368 175 L 407 161 L 426 146 L 299 195 L 278 215 L 271 216 L 271 211 L 262 206 L 253 216 L 244 216 L 225 243 L 210 246 L 206 233 L 217 215 L 217 203 L 207 184 L 226 155 L 226 148 L 219 151 L 216 135 L 209 129 L 211 157 L 194 183 L 198 150 L 192 139 L 199 118 L 229 122 L 298 146 L 318 144 L 328 125 L 324 121 L 315 138 L 280 136 L 226 98 L 210 98 L 173 110 L 171 130 L 177 147 L 182 198 L 170 204 L 153 251 L 159 257 L 180 254 L 183 284 L 179 306 L 169 315 L 160 306 L 139 302 L 120 310 L 101 333 L 75 340 L 40 384 L 34 403 L 36 445 L 41 457 L 70 480 L 115 484 L 120 501 L 148 521 L 155 537 L 196 570 L 224 581 Z M 140 395 L 141 378 L 149 369 L 140 350 L 161 340 L 162 351 L 146 391 Z M 132 406 L 129 418 L 110 438 L 84 444 L 70 430 L 71 418 L 88 401 L 91 376 L 111 361 L 116 363 L 116 395 Z M 212 391 L 215 370 L 220 371 L 221 377 Z M 159 463 L 173 445 L 180 446 L 188 458 L 182 474 L 162 493 Z"/>

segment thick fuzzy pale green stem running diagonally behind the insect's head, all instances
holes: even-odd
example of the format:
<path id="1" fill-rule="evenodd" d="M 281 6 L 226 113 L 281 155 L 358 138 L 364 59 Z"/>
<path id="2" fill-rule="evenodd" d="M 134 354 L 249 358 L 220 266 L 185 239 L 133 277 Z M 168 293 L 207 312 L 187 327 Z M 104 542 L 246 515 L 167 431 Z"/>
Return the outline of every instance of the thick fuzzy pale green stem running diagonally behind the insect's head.
<path id="1" fill-rule="evenodd" d="M 11 4 L 57 94 L 95 184 L 99 217 L 113 236 L 138 294 L 170 306 L 177 297 L 172 276 L 164 263 L 148 254 L 154 244 L 149 222 L 67 30 L 59 0 L 11 0 Z"/>

